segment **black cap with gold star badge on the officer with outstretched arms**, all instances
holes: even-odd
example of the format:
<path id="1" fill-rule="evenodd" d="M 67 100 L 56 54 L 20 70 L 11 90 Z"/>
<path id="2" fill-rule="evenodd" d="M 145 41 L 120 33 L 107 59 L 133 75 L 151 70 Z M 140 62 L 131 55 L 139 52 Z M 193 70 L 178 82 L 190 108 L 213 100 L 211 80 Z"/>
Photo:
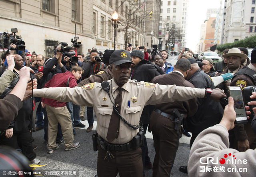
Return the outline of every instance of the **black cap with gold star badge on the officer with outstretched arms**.
<path id="1" fill-rule="evenodd" d="M 127 50 L 115 50 L 109 59 L 109 64 L 121 65 L 123 63 L 132 63 L 130 52 Z M 134 63 L 133 63 L 134 64 Z"/>

